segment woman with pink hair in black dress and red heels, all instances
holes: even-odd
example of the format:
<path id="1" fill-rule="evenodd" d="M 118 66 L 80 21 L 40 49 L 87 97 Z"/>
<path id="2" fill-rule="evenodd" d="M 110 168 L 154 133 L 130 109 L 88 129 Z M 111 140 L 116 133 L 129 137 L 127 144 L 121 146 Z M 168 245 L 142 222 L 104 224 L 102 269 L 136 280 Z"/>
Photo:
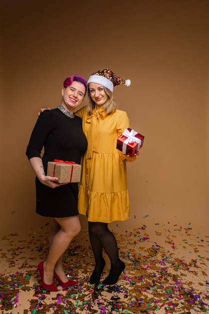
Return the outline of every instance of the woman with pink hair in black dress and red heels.
<path id="1" fill-rule="evenodd" d="M 79 75 L 64 81 L 60 105 L 40 115 L 26 151 L 36 174 L 36 212 L 51 217 L 52 222 L 49 254 L 37 269 L 41 274 L 42 287 L 50 291 L 58 291 L 53 278 L 63 287 L 77 284 L 66 276 L 62 259 L 81 226 L 77 207 L 78 183 L 57 183 L 58 178 L 46 175 L 47 164 L 54 159 L 81 163 L 87 140 L 82 131 L 82 120 L 74 111 L 82 103 L 86 90 L 86 80 Z"/>

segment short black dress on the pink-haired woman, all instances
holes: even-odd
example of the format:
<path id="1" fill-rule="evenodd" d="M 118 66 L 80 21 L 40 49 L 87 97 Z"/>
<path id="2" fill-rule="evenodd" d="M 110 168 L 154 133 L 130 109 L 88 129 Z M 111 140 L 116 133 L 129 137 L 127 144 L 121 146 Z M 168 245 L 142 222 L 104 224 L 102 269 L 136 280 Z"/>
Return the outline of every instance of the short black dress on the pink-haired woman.
<path id="1" fill-rule="evenodd" d="M 70 118 L 58 108 L 45 110 L 38 118 L 31 134 L 26 155 L 28 159 L 41 157 L 43 166 L 54 159 L 80 164 L 81 155 L 87 149 L 82 130 L 82 119 Z M 70 217 L 78 215 L 78 183 L 69 183 L 52 189 L 36 178 L 36 212 L 46 217 Z"/>

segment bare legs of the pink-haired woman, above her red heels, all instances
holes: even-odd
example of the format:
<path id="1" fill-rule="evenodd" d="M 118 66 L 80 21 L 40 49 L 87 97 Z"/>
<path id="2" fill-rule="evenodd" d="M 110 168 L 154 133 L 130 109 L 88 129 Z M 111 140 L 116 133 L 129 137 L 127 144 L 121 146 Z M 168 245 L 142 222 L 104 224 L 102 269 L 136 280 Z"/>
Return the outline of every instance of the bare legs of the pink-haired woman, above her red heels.
<path id="1" fill-rule="evenodd" d="M 65 217 L 65 218 L 54 218 L 58 225 L 53 221 L 53 228 L 50 234 L 51 247 L 46 261 L 44 262 L 44 282 L 51 284 L 53 282 L 54 270 L 56 270 L 60 279 L 63 282 L 67 282 L 64 270 L 62 268 L 62 256 L 67 250 L 72 239 L 80 232 L 81 225 L 78 216 Z M 56 230 L 59 229 L 57 233 Z M 54 236 L 53 236 L 54 232 Z"/>

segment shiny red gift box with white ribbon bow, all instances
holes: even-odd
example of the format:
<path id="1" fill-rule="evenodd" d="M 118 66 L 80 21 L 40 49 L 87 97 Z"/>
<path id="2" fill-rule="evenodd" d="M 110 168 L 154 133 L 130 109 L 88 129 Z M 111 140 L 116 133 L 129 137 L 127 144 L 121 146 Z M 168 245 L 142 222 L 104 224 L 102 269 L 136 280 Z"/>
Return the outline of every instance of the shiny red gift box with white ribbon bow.
<path id="1" fill-rule="evenodd" d="M 117 149 L 132 157 L 143 146 L 143 142 L 144 136 L 129 127 L 118 137 Z"/>

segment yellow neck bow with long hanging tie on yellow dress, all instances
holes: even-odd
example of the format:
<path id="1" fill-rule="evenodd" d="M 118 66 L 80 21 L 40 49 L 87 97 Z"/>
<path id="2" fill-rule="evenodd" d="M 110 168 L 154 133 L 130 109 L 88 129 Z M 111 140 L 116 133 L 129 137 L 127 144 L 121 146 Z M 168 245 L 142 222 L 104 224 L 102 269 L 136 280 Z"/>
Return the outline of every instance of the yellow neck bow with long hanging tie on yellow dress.
<path id="1" fill-rule="evenodd" d="M 94 108 L 92 110 L 92 114 L 88 116 L 86 119 L 87 123 L 90 123 L 88 129 L 88 147 L 86 152 L 86 158 L 89 159 L 92 157 L 93 150 L 97 149 L 98 147 L 98 128 L 99 128 L 99 121 L 102 119 L 104 120 L 106 116 L 104 108 L 96 110 Z M 96 151 L 96 150 L 95 150 Z"/>

